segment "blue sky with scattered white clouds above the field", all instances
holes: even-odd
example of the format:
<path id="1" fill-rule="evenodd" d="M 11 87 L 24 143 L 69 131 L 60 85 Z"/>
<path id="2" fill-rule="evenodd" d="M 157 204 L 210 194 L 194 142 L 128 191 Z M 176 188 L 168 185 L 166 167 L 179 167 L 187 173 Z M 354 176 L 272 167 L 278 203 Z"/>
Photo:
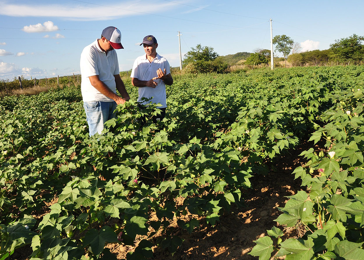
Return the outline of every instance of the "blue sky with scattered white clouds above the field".
<path id="1" fill-rule="evenodd" d="M 120 71 L 130 70 L 144 36 L 158 40 L 157 52 L 179 66 L 178 31 L 183 55 L 213 47 L 219 55 L 270 49 L 285 34 L 302 50 L 324 50 L 335 39 L 364 35 L 363 0 L 0 0 L 0 79 L 44 78 L 80 73 L 85 46 L 107 26 L 122 32 L 117 50 Z"/>

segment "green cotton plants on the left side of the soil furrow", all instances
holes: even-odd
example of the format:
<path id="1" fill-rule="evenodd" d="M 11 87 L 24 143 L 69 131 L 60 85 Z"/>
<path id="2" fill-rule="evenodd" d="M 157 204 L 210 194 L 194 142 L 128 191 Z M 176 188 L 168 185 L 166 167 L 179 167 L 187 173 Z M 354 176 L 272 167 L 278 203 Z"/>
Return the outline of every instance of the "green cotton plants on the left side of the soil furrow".
<path id="1" fill-rule="evenodd" d="M 155 245 L 174 253 L 182 240 L 173 222 L 188 232 L 200 221 L 215 225 L 277 154 L 325 132 L 323 115 L 338 99 L 351 104 L 344 97 L 362 73 L 334 67 L 177 76 L 162 122 L 141 126 L 152 106 L 138 111 L 131 101 L 91 138 L 79 88 L 4 98 L 0 259 L 27 244 L 31 259 L 116 259 L 105 243 L 136 239 L 127 259 L 153 257 Z M 136 89 L 129 92 L 135 100 Z"/>

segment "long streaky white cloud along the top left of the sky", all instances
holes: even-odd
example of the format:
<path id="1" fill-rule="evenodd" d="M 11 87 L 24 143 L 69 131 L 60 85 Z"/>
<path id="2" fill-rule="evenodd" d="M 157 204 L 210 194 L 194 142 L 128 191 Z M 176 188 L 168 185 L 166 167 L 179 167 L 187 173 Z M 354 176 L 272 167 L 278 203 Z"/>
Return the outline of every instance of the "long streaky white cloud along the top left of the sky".
<path id="1" fill-rule="evenodd" d="M 142 3 L 139 1 L 113 1 L 108 6 L 90 4 L 13 4 L 1 1 L 0 15 L 16 17 L 64 17 L 70 20 L 111 20 L 125 16 L 143 15 L 143 13 L 159 13 L 176 7 L 175 3 Z M 111 8 L 112 7 L 112 8 Z"/>

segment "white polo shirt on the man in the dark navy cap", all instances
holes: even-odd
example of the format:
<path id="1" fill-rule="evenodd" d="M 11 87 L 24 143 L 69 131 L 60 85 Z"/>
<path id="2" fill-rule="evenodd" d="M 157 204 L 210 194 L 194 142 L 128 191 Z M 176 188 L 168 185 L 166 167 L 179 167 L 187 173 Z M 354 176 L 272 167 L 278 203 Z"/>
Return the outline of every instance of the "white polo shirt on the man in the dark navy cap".
<path id="1" fill-rule="evenodd" d="M 153 59 L 152 62 L 149 62 L 147 59 L 147 55 L 139 56 L 133 65 L 133 69 L 131 71 L 130 77 L 137 78 L 139 80 L 150 80 L 154 77 L 157 77 L 157 70 L 161 68 L 162 71 L 166 69 L 166 75 L 170 74 L 170 66 L 166 58 L 162 57 L 157 53 L 157 56 Z M 166 84 L 161 79 L 154 80 L 158 83 L 158 86 L 153 87 L 139 87 L 139 97 L 138 102 L 141 102 L 143 97 L 151 98 L 152 103 L 161 103 L 162 106 L 160 108 L 167 107 L 166 102 Z M 143 105 L 146 105 L 149 102 L 143 102 Z"/>

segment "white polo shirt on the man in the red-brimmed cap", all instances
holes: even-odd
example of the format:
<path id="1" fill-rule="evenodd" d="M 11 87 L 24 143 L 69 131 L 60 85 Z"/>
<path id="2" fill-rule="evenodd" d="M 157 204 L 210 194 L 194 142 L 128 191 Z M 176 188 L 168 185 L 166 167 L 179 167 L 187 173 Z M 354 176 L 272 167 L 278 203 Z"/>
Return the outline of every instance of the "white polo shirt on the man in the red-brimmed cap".
<path id="1" fill-rule="evenodd" d="M 120 73 L 118 56 L 116 51 L 108 51 L 106 53 L 101 50 L 99 39 L 86 46 L 81 53 L 81 93 L 84 102 L 88 101 L 114 101 L 103 95 L 94 86 L 91 85 L 89 76 L 99 75 L 99 79 L 116 93 L 116 83 L 114 75 Z"/>

